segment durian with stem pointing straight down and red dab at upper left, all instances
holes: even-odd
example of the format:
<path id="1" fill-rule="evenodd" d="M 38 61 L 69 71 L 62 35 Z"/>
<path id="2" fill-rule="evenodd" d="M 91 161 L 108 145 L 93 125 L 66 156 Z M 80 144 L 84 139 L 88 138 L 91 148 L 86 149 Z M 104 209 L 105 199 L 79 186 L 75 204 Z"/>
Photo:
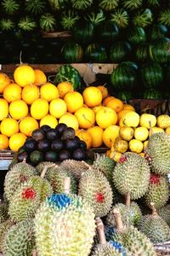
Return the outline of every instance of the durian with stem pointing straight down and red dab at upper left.
<path id="1" fill-rule="evenodd" d="M 139 154 L 125 153 L 116 163 L 113 182 L 122 195 L 130 195 L 132 200 L 143 196 L 150 183 L 150 166 Z"/>

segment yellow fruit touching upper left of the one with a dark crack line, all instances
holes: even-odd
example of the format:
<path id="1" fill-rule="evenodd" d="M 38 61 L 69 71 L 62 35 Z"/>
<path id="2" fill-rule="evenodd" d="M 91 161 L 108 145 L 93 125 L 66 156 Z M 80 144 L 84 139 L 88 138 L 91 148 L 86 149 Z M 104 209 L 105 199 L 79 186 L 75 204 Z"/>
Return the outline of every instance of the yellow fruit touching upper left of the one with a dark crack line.
<path id="1" fill-rule="evenodd" d="M 82 94 L 78 91 L 70 91 L 65 94 L 64 101 L 67 106 L 67 110 L 70 113 L 75 113 L 78 108 L 83 106 Z"/>

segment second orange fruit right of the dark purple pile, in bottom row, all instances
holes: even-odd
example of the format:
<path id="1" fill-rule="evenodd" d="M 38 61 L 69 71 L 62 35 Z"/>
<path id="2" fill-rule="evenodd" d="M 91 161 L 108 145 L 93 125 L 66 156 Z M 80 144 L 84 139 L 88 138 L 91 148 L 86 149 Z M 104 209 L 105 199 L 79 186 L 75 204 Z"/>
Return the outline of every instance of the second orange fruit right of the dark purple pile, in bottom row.
<path id="1" fill-rule="evenodd" d="M 103 129 L 99 126 L 88 128 L 88 132 L 92 136 L 92 147 L 99 148 L 103 144 Z"/>

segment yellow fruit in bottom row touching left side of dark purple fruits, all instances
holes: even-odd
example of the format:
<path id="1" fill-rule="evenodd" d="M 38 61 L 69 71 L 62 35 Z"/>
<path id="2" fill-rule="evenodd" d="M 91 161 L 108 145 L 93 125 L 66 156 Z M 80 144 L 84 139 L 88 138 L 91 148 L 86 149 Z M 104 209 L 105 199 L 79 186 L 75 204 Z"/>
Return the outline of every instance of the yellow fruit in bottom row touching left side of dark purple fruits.
<path id="1" fill-rule="evenodd" d="M 19 132 L 11 136 L 8 140 L 8 146 L 14 152 L 17 152 L 20 147 L 26 142 L 26 135 Z"/>

